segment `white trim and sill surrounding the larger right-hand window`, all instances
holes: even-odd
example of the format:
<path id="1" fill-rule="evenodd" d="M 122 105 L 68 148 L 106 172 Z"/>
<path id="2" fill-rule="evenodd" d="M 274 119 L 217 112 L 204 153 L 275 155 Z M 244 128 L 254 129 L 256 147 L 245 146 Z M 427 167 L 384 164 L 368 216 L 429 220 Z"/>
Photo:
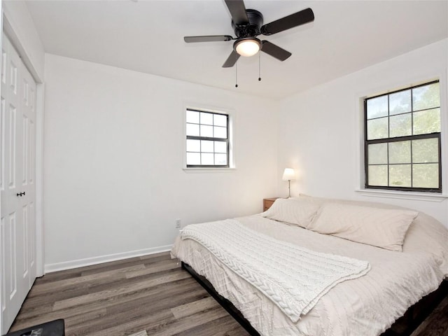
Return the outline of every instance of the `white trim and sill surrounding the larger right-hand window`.
<path id="1" fill-rule="evenodd" d="M 365 172 L 364 172 L 364 99 L 373 97 L 377 94 L 385 94 L 394 90 L 400 90 L 400 87 L 410 87 L 426 83 L 430 80 L 439 80 L 440 83 L 440 123 L 441 134 L 440 141 L 442 146 L 442 193 L 419 193 L 415 191 L 399 191 L 399 190 L 381 190 L 365 188 Z M 448 97 L 447 97 L 447 69 L 440 69 L 436 73 L 428 73 L 427 76 L 419 76 L 419 78 L 411 78 L 409 84 L 403 85 L 405 80 L 398 85 L 389 83 L 388 87 L 382 87 L 378 90 L 370 92 L 358 92 L 353 99 L 356 104 L 356 120 L 355 127 L 358 132 L 358 150 L 356 151 L 356 181 L 355 192 L 365 197 L 381 197 L 395 198 L 400 200 L 419 200 L 427 202 L 442 202 L 448 198 L 448 155 L 445 153 L 448 149 Z M 376 91 L 376 93 L 374 92 Z"/>

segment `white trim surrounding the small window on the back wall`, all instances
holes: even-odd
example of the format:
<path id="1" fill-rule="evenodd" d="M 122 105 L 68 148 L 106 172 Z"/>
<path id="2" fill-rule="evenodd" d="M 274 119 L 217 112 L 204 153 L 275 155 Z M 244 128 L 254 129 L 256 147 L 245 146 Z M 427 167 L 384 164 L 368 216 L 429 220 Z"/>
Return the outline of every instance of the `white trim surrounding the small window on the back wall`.
<path id="1" fill-rule="evenodd" d="M 212 112 L 212 113 L 225 113 L 229 117 L 229 167 L 187 167 L 187 109 L 192 109 L 195 111 Z M 235 141 L 233 137 L 233 129 L 235 127 L 235 113 L 232 109 L 225 109 L 216 106 L 207 106 L 204 104 L 197 103 L 185 103 L 183 104 L 182 110 L 182 151 L 183 151 L 183 171 L 187 173 L 222 173 L 222 172 L 232 172 L 236 169 L 235 166 Z"/>

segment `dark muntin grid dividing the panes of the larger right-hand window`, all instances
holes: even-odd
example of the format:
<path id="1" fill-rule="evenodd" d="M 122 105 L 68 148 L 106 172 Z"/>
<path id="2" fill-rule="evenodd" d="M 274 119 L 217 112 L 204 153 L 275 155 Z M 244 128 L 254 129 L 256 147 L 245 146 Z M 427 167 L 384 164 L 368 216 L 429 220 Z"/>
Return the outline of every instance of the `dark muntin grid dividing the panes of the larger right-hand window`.
<path id="1" fill-rule="evenodd" d="M 416 134 L 414 135 L 414 113 L 416 112 L 420 112 L 420 111 L 429 111 L 432 109 L 439 109 L 440 110 L 440 100 L 439 100 L 439 104 L 438 106 L 431 106 L 429 108 L 426 109 L 419 109 L 419 110 L 415 110 L 414 111 L 414 89 L 418 88 L 418 87 L 423 87 L 423 86 L 427 86 L 427 85 L 431 85 L 431 84 L 435 84 L 435 83 L 439 83 L 439 80 L 433 80 L 431 82 L 428 83 L 423 83 L 421 85 L 415 85 L 413 87 L 407 87 L 405 89 L 401 89 L 401 90 L 395 90 L 392 92 L 388 92 L 386 94 L 379 94 L 377 96 L 373 96 L 373 97 L 369 97 L 364 99 L 364 153 L 365 153 L 365 159 L 364 159 L 364 165 L 365 165 L 365 188 L 369 188 L 369 189 L 383 189 L 383 190 L 401 190 L 401 191 L 421 191 L 421 192 L 429 192 L 429 193 L 442 193 L 442 151 L 441 151 L 441 141 L 440 141 L 440 133 L 441 132 L 433 132 L 433 133 L 426 133 L 426 134 Z M 390 94 L 394 94 L 396 92 L 402 92 L 402 91 L 407 91 L 407 90 L 411 90 L 411 110 L 409 112 L 404 112 L 404 113 L 398 113 L 398 114 L 393 114 L 391 115 L 391 110 L 390 110 Z M 376 118 L 370 118 L 367 119 L 367 101 L 369 99 L 374 99 L 377 97 L 382 97 L 382 96 L 387 96 L 387 116 L 379 116 Z M 390 118 L 391 116 L 399 116 L 402 114 L 411 114 L 411 134 L 409 136 L 403 136 L 403 137 L 390 137 L 390 128 L 391 128 L 391 123 L 390 123 Z M 387 118 L 387 128 L 388 128 L 388 138 L 380 138 L 380 139 L 370 139 L 367 140 L 367 121 L 368 120 L 374 120 L 374 119 L 380 119 L 380 118 Z M 440 120 L 441 122 L 441 120 Z M 438 151 L 438 162 L 413 162 L 413 155 L 412 155 L 412 140 L 418 140 L 418 139 L 437 139 L 437 151 Z M 410 163 L 397 163 L 397 164 L 391 164 L 389 163 L 389 146 L 387 146 L 387 164 L 373 164 L 370 165 L 368 160 L 368 146 L 370 144 L 381 144 L 381 143 L 386 143 L 386 144 L 390 144 L 392 142 L 396 142 L 396 141 L 410 141 L 410 146 L 411 146 L 411 159 L 410 159 Z M 412 183 L 414 181 L 414 165 L 430 165 L 430 164 L 438 164 L 438 184 L 439 184 L 439 188 L 420 188 L 420 187 L 412 187 Z M 370 186 L 369 183 L 369 167 L 370 166 L 381 166 L 381 165 L 386 165 L 387 167 L 387 186 Z M 399 186 L 391 186 L 391 181 L 390 181 L 390 167 L 393 165 L 410 165 L 411 166 L 411 187 L 399 187 Z"/>

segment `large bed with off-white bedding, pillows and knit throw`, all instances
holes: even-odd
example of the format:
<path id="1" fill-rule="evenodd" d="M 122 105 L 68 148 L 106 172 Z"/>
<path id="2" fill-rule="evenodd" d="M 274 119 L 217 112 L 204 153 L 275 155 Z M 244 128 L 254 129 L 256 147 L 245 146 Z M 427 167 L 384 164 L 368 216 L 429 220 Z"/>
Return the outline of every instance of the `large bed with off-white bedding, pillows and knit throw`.
<path id="1" fill-rule="evenodd" d="M 226 227 L 231 232 L 226 233 Z M 205 239 L 197 233 L 204 228 L 215 231 L 211 230 L 211 236 Z M 270 251 L 267 247 L 266 253 L 261 255 L 253 251 L 258 240 L 253 246 L 247 244 L 251 249 L 248 252 L 232 246 L 237 244 L 232 241 L 237 241 L 238 237 L 246 239 L 246 233 L 265 239 L 261 243 L 265 247 L 272 243 L 276 248 L 281 245 L 281 251 L 283 245 L 292 248 L 283 255 L 288 262 L 282 267 L 287 267 L 287 271 L 274 267 L 274 272 L 266 271 L 267 274 L 283 272 L 284 277 L 296 268 L 301 272 L 301 268 L 307 268 L 300 267 L 306 262 L 290 260 L 305 251 L 311 253 L 311 258 L 332 258 L 323 262 L 323 269 L 328 268 L 325 266 L 328 262 L 333 264 L 334 259 L 342 260 L 345 267 L 342 277 L 333 281 L 334 276 L 328 276 L 331 286 L 325 283 L 323 289 L 317 289 L 320 292 L 316 297 L 310 297 L 303 307 L 295 309 L 302 299 L 297 304 L 290 298 L 297 296 L 297 288 L 302 283 L 286 282 L 292 294 L 279 300 L 277 294 L 283 293 L 282 289 L 266 286 L 258 279 L 253 281 L 265 272 L 265 266 L 271 267 L 265 265 L 269 264 L 265 260 L 271 256 L 267 254 Z M 232 237 L 233 234 L 237 237 Z M 213 237 L 218 237 L 215 240 L 223 241 L 223 245 L 232 246 L 230 251 L 210 245 Z M 249 258 L 239 258 L 239 255 L 246 255 L 244 253 L 248 253 Z M 283 260 L 283 256 L 274 255 L 272 263 L 280 265 L 282 262 L 278 260 Z M 262 214 L 188 225 L 176 238 L 172 257 L 179 258 L 194 274 L 211 284 L 220 297 L 230 301 L 244 317 L 241 321 L 250 323 L 246 329 L 253 330 L 253 335 L 258 332 L 272 336 L 377 336 L 422 297 L 437 290 L 448 276 L 448 230 L 426 214 L 387 204 L 297 197 L 277 200 Z M 254 259 L 251 262 L 255 269 L 247 271 L 234 265 L 239 259 L 244 267 L 246 259 Z M 240 272 L 240 268 L 243 271 Z M 354 273 L 344 274 L 346 269 Z M 299 276 L 304 281 L 309 274 Z M 277 286 L 283 282 L 279 279 L 268 282 Z M 302 291 L 301 287 L 298 291 Z"/>

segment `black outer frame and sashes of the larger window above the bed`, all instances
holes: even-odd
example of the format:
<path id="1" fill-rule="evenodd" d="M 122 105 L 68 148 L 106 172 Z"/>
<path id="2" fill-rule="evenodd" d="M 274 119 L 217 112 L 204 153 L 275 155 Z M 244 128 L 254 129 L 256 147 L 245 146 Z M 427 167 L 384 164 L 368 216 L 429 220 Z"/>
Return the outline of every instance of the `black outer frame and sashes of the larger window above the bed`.
<path id="1" fill-rule="evenodd" d="M 408 136 L 402 136 L 402 137 L 389 137 L 387 138 L 381 138 L 381 139 L 372 139 L 372 140 L 367 140 L 367 100 L 369 99 L 374 99 L 377 97 L 382 97 L 382 96 L 389 96 L 390 94 L 394 94 L 396 92 L 402 92 L 402 91 L 407 91 L 407 90 L 413 90 L 415 88 L 418 87 L 422 87 L 422 86 L 426 86 L 426 85 L 431 85 L 434 83 L 439 83 L 440 85 L 440 101 L 439 101 L 439 106 L 438 107 L 434 107 L 431 109 L 439 109 L 440 111 L 440 132 L 432 132 L 432 133 L 425 133 L 425 134 L 412 134 L 412 135 L 408 135 Z M 400 90 L 393 90 L 393 91 L 389 91 L 383 94 L 376 94 L 374 96 L 370 96 L 370 97 L 364 97 L 363 98 L 363 116 L 364 116 L 364 188 L 365 190 L 395 190 L 395 191 L 404 191 L 404 192 L 417 192 L 417 193 L 434 193 L 434 194 L 442 194 L 442 90 L 441 90 L 441 83 L 440 80 L 430 80 L 428 82 L 425 83 L 421 83 L 419 85 L 411 85 L 408 87 L 404 87 Z M 412 104 L 412 97 L 411 97 L 411 104 Z M 426 111 L 428 109 L 425 110 L 419 110 L 419 111 Z M 411 106 L 411 111 L 409 113 L 411 113 L 411 116 L 413 116 L 414 112 L 418 112 L 418 111 L 414 111 L 413 110 L 413 106 Z M 390 115 L 390 111 L 388 111 L 388 130 L 390 131 L 390 123 L 389 123 L 389 118 L 391 117 Z M 381 118 L 381 117 L 380 117 Z M 414 120 L 413 117 L 412 118 L 412 127 L 414 127 Z M 369 158 L 368 158 L 368 146 L 370 144 L 391 144 L 394 142 L 398 142 L 398 141 L 412 141 L 412 140 L 419 140 L 419 139 L 437 139 L 438 142 L 438 146 L 437 146 L 437 151 L 438 151 L 438 162 L 426 162 L 426 163 L 438 163 L 438 184 L 439 184 L 439 188 L 420 188 L 420 187 L 399 187 L 399 186 L 389 186 L 389 174 L 387 176 L 388 179 L 388 186 L 370 186 L 368 184 L 369 181 Z M 389 168 L 391 167 L 391 165 L 403 165 L 402 163 L 400 164 L 391 164 L 389 162 L 387 162 L 387 169 L 389 172 Z M 412 167 L 414 165 L 419 165 L 419 163 L 413 163 L 412 162 L 412 152 L 411 152 L 411 162 L 409 163 L 409 165 L 411 165 L 411 181 L 412 181 Z"/>

